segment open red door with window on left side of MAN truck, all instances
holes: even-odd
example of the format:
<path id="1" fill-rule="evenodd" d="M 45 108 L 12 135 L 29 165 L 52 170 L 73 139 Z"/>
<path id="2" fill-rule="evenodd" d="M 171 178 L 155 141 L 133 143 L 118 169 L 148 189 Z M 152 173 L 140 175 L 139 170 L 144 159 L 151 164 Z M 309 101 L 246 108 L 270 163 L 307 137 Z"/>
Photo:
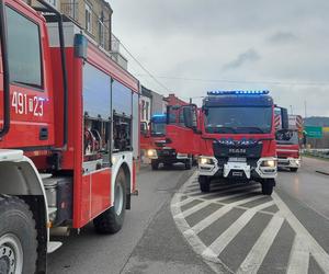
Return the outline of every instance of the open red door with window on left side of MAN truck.
<path id="1" fill-rule="evenodd" d="M 180 153 L 200 155 L 197 106 L 168 106 L 167 142 Z"/>

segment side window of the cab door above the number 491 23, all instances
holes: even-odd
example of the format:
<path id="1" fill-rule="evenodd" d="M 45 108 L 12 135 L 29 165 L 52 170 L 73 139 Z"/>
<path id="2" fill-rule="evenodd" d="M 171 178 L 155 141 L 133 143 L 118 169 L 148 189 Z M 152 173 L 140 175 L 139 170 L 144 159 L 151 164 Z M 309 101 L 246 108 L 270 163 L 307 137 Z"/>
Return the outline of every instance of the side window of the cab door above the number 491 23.
<path id="1" fill-rule="evenodd" d="M 5 8 L 10 80 L 42 88 L 41 35 L 38 25 Z M 24 46 L 22 46 L 24 45 Z"/>

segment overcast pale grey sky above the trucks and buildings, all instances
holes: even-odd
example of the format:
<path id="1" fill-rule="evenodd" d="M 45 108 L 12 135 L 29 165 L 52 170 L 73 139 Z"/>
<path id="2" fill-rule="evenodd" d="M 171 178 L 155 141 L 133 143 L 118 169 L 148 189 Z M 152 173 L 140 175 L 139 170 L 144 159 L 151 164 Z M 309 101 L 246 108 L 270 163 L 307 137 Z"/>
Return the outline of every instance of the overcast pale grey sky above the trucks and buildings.
<path id="1" fill-rule="evenodd" d="M 328 0 L 109 2 L 113 33 L 180 98 L 261 89 L 294 114 L 306 101 L 307 116 L 329 116 Z M 128 59 L 141 84 L 169 93 Z"/>

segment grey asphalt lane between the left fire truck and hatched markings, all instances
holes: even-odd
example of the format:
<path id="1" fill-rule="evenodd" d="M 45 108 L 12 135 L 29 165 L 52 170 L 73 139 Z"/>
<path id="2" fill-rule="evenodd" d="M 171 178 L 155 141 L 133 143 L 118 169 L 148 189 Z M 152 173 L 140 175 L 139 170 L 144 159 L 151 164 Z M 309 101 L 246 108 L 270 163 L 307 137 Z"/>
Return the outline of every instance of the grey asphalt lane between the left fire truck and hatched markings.
<path id="1" fill-rule="evenodd" d="M 138 174 L 139 195 L 126 212 L 123 229 L 100 236 L 90 225 L 65 238 L 48 256 L 48 273 L 212 273 L 181 237 L 170 214 L 173 193 L 193 173 L 183 167 Z"/>

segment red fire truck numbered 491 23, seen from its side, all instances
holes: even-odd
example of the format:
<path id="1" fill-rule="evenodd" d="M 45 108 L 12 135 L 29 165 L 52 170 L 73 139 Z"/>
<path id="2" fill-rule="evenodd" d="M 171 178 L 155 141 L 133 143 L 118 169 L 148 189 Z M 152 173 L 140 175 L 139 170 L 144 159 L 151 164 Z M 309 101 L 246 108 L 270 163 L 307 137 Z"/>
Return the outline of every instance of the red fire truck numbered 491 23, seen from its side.
<path id="1" fill-rule="evenodd" d="M 1 273 L 45 273 L 53 233 L 118 231 L 136 191 L 138 81 L 39 3 L 0 2 Z"/>

